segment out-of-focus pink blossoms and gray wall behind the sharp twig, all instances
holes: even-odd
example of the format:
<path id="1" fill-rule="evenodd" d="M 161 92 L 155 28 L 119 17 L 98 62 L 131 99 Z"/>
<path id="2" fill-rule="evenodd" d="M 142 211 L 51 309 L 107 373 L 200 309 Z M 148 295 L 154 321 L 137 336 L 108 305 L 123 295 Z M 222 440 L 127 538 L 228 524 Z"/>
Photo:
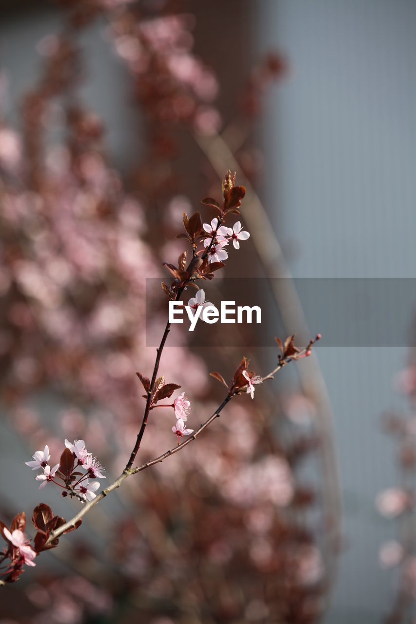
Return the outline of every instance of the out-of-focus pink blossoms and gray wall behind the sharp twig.
<path id="1" fill-rule="evenodd" d="M 79 509 L 49 486 L 39 498 L 23 462 L 44 444 L 54 464 L 82 437 L 108 480 L 123 469 L 143 407 L 134 371 L 154 361 L 145 280 L 167 279 L 182 212 L 219 198 L 227 168 L 251 236 L 225 276 L 262 278 L 270 344 L 324 336 L 42 553 L 2 589 L 0 622 L 412 622 L 413 281 L 405 309 L 386 288 L 389 326 L 367 318 L 397 344 L 357 343 L 346 309 L 351 346 L 325 346 L 332 302 L 308 328 L 296 278 L 371 290 L 414 276 L 414 2 L 0 6 L 1 519 L 24 509 L 32 535 L 39 500 Z M 162 311 L 148 323 L 157 333 Z M 209 371 L 229 379 L 243 354 L 256 372 L 277 357 L 167 347 L 190 426 L 222 400 Z M 171 425 L 150 424 L 143 461 Z"/>

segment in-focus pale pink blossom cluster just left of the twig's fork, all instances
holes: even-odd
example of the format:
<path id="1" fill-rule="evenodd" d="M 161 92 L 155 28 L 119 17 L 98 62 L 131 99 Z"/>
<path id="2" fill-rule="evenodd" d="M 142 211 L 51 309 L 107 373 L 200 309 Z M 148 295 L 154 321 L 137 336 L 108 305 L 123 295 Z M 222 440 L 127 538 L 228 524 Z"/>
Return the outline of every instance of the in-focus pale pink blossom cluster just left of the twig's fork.
<path id="1" fill-rule="evenodd" d="M 36 475 L 36 480 L 41 481 L 39 490 L 46 487 L 48 483 L 54 483 L 67 490 L 71 496 L 75 495 L 84 502 L 95 499 L 99 482 L 90 481 L 90 479 L 105 479 L 106 477 L 102 474 L 104 468 L 97 458 L 92 457 L 92 454 L 87 451 L 84 440 L 74 440 L 73 444 L 65 440 L 65 447 L 59 464 L 53 467 L 48 464 L 51 456 L 47 445 L 43 451 L 36 451 L 33 461 L 25 462 L 26 466 L 32 470 L 42 469 L 42 472 Z M 85 472 L 80 472 L 80 468 Z M 59 483 L 58 479 L 64 485 Z M 62 495 L 67 495 L 67 492 L 62 492 Z"/>

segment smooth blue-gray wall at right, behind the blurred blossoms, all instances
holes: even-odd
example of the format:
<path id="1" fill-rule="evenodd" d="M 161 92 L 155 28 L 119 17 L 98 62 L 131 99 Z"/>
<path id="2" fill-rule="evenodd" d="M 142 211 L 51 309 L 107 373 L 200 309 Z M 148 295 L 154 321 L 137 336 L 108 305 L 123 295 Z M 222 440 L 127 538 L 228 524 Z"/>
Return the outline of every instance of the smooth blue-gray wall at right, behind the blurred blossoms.
<path id="1" fill-rule="evenodd" d="M 298 245 L 293 274 L 415 276 L 416 2 L 262 0 L 253 8 L 257 49 L 279 47 L 292 67 L 272 90 L 262 129 L 265 202 L 284 247 Z M 338 320 L 349 323 L 347 314 Z M 322 334 L 346 540 L 325 622 L 372 624 L 394 587 L 377 560 L 395 525 L 377 515 L 374 499 L 397 482 L 380 413 L 400 405 L 392 377 L 407 349 L 325 348 Z"/>

